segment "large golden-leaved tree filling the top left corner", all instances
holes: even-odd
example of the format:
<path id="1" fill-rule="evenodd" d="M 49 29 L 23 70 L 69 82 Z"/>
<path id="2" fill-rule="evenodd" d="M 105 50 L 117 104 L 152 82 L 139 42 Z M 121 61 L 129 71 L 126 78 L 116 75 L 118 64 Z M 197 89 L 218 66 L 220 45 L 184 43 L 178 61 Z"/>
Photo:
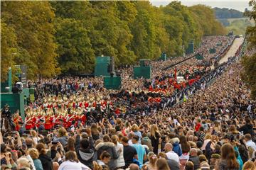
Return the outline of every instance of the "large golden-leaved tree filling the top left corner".
<path id="1" fill-rule="evenodd" d="M 34 67 L 28 67 L 28 78 L 52 77 L 59 73 L 54 40 L 55 30 L 53 8 L 48 1 L 3 1 L 1 3 L 1 19 L 8 28 L 13 28 L 17 37 L 19 50 L 28 52 L 29 62 Z M 22 57 L 22 56 L 21 56 Z M 28 60 L 23 60 L 28 61 Z M 20 64 L 20 63 L 16 63 Z M 28 63 L 24 63 L 28 64 Z"/>

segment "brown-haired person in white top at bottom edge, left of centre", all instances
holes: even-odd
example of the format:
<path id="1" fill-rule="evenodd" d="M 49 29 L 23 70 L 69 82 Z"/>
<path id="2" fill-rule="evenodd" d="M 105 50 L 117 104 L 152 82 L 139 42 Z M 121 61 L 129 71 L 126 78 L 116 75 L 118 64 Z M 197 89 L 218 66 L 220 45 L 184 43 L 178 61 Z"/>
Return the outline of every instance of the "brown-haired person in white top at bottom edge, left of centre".
<path id="1" fill-rule="evenodd" d="M 58 170 L 91 170 L 88 166 L 85 166 L 79 162 L 75 152 L 69 151 L 65 154 L 65 162 L 60 164 Z"/>

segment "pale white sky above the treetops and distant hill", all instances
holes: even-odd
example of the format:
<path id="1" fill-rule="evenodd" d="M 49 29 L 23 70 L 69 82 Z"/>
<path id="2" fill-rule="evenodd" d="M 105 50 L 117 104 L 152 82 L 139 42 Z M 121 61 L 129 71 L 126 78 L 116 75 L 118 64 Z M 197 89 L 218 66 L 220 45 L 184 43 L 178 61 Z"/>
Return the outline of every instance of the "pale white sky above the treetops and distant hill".
<path id="1" fill-rule="evenodd" d="M 152 5 L 154 6 L 166 6 L 168 5 L 172 0 L 149 0 Z M 245 11 L 245 8 L 251 9 L 249 6 L 249 0 L 179 0 L 181 1 L 181 4 L 186 6 L 193 6 L 196 4 L 204 4 L 211 7 L 218 7 L 218 8 L 233 8 L 238 11 Z"/>

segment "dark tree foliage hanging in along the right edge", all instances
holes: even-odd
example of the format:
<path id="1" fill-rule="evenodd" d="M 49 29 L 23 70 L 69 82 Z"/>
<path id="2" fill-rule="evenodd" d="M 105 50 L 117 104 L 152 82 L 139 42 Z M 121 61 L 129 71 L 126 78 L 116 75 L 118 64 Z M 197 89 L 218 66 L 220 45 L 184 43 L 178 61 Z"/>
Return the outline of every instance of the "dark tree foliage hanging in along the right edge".
<path id="1" fill-rule="evenodd" d="M 245 14 L 256 21 L 256 1 L 250 1 L 252 11 L 247 11 Z M 255 22 L 256 23 L 256 22 Z M 256 48 L 256 26 L 247 28 L 248 50 Z M 248 84 L 251 90 L 251 97 L 256 98 L 256 53 L 252 56 L 244 56 L 242 60 L 244 67 L 242 79 Z"/>

